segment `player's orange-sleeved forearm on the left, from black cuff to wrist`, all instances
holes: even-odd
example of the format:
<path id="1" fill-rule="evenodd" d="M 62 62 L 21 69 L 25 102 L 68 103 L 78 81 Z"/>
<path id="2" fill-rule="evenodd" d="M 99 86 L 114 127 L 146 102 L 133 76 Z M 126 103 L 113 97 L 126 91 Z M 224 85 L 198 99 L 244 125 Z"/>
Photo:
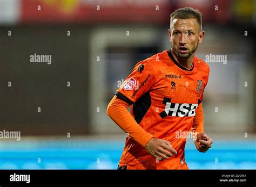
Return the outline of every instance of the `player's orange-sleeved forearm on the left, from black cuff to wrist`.
<path id="1" fill-rule="evenodd" d="M 122 99 L 118 99 L 114 96 L 109 106 L 107 106 L 107 115 L 129 136 L 137 141 L 143 147 L 146 146 L 147 142 L 153 138 L 153 135 L 147 133 L 142 127 L 140 127 L 134 118 L 127 111 L 129 104 L 124 102 Z"/>

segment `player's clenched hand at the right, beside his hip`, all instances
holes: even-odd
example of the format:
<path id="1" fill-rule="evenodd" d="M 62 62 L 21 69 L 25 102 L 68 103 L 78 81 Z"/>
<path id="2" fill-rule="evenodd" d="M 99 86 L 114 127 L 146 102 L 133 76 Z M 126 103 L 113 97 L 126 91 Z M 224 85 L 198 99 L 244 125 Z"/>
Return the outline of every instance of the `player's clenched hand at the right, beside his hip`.
<path id="1" fill-rule="evenodd" d="M 212 139 L 205 133 L 197 134 L 196 140 L 194 141 L 194 145 L 201 153 L 207 152 L 212 147 L 212 143 Z"/>

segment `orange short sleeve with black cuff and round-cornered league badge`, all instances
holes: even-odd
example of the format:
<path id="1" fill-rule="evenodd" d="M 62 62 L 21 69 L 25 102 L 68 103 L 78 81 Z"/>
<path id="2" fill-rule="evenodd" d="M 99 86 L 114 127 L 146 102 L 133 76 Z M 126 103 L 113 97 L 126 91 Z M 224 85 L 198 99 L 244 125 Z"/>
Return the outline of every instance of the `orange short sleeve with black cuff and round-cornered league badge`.
<path id="1" fill-rule="evenodd" d="M 132 105 L 150 91 L 154 84 L 154 70 L 148 61 L 140 61 L 133 68 L 115 95 Z"/>

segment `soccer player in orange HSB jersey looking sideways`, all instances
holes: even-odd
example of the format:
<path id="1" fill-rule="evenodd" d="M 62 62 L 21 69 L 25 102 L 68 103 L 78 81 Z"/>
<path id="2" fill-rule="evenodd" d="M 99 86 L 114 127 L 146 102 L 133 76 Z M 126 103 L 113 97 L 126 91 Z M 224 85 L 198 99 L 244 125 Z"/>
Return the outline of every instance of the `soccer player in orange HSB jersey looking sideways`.
<path id="1" fill-rule="evenodd" d="M 138 62 L 109 103 L 107 114 L 127 134 L 118 169 L 188 169 L 187 132 L 199 152 L 211 148 L 202 107 L 210 69 L 194 56 L 205 35 L 201 20 L 192 8 L 171 13 L 171 49 Z"/>

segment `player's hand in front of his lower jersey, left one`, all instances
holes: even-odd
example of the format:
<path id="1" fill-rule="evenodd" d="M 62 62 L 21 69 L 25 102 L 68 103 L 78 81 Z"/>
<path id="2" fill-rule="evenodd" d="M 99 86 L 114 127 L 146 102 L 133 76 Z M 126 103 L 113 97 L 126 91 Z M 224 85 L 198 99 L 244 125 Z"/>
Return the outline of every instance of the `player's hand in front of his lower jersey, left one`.
<path id="1" fill-rule="evenodd" d="M 151 154 L 159 161 L 169 159 L 173 154 L 177 154 L 177 151 L 172 148 L 171 143 L 163 139 L 152 138 L 147 142 L 145 148 L 147 153 Z"/>

